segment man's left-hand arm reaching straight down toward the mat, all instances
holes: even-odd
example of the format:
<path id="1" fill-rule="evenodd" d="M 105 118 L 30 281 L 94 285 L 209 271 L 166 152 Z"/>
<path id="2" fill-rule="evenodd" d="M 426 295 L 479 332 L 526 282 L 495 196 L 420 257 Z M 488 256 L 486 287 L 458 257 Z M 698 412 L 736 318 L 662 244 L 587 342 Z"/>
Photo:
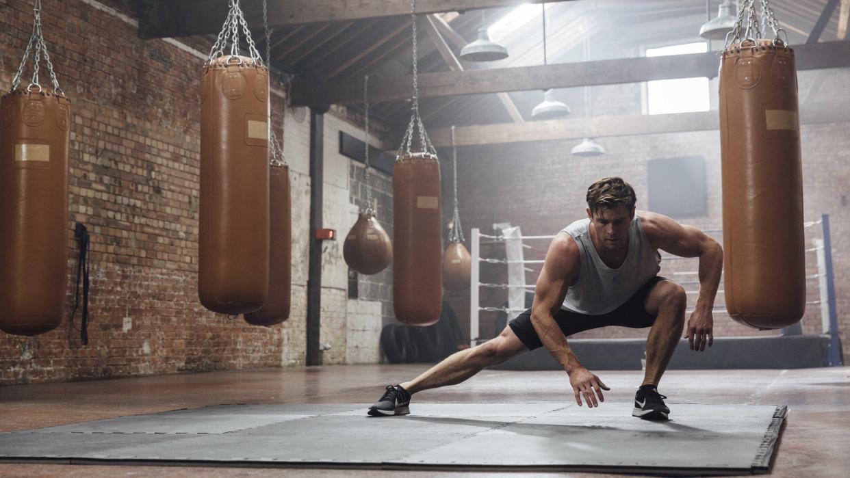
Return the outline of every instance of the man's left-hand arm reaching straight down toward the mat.
<path id="1" fill-rule="evenodd" d="M 581 406 L 581 396 L 584 396 L 587 406 L 592 408 L 598 406 L 597 395 L 599 401 L 604 402 L 602 390 L 609 388 L 579 363 L 554 318 L 564 303 L 567 290 L 578 278 L 580 265 L 581 256 L 575 240 L 567 233 L 559 233 L 549 245 L 546 261 L 537 278 L 534 304 L 531 306 L 531 324 L 543 346 L 570 375 L 575 402 Z"/>

